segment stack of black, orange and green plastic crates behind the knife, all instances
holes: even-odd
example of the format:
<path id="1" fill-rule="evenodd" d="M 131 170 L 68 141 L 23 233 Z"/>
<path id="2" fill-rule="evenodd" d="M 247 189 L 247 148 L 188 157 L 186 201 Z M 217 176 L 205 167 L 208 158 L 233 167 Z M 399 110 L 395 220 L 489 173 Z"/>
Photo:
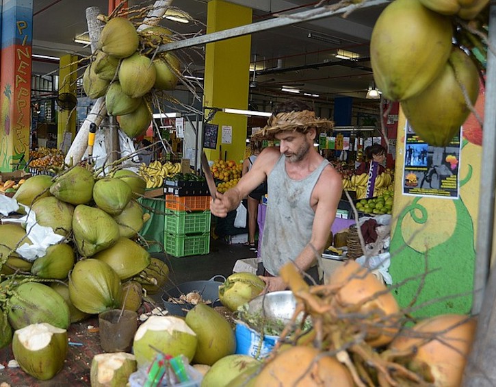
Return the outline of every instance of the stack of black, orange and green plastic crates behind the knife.
<path id="1" fill-rule="evenodd" d="M 164 247 L 174 257 L 210 251 L 210 196 L 206 182 L 166 181 Z"/>

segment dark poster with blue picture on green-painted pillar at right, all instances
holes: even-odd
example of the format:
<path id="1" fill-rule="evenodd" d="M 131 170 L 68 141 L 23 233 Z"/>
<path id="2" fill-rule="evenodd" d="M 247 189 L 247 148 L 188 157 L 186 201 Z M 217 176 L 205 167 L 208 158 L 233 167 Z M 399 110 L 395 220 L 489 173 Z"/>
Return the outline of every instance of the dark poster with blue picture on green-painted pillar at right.
<path id="1" fill-rule="evenodd" d="M 460 138 L 461 127 L 448 145 L 434 147 L 421 140 L 406 121 L 404 195 L 458 199 Z"/>

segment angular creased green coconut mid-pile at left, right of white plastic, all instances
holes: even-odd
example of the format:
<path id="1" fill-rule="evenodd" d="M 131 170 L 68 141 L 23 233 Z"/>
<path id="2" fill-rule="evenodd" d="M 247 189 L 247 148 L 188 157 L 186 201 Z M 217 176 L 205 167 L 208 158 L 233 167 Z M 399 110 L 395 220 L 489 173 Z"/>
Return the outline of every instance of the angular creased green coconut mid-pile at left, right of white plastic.
<path id="1" fill-rule="evenodd" d="M 119 239 L 119 226 L 112 216 L 83 204 L 74 210 L 73 232 L 77 249 L 84 257 L 111 247 Z"/>

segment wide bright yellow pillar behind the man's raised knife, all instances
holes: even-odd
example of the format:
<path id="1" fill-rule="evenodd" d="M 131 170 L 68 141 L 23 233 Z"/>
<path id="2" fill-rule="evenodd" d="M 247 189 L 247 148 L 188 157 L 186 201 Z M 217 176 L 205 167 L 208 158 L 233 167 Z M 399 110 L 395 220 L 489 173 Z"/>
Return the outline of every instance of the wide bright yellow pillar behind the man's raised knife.
<path id="1" fill-rule="evenodd" d="M 207 34 L 248 25 L 251 8 L 213 0 L 208 3 Z M 251 36 L 239 36 L 209 43 L 205 53 L 205 95 L 203 105 L 209 108 L 248 109 L 250 83 Z M 207 114 L 209 111 L 207 110 Z M 215 160 L 227 155 L 228 160 L 243 159 L 246 147 L 247 117 L 217 112 L 210 123 L 219 125 L 217 148 L 205 149 L 207 158 Z M 232 127 L 231 144 L 222 143 L 222 127 Z M 222 155 L 220 154 L 222 147 Z"/>

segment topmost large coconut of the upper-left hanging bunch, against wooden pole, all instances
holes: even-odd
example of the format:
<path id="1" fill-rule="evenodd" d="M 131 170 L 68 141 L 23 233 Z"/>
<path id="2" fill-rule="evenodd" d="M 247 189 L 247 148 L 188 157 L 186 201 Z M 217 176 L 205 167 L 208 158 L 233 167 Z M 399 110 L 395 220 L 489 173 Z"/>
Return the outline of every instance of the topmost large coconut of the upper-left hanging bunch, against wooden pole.
<path id="1" fill-rule="evenodd" d="M 140 44 L 138 32 L 127 18 L 111 18 L 103 27 L 98 41 L 101 51 L 115 58 L 127 58 Z"/>

